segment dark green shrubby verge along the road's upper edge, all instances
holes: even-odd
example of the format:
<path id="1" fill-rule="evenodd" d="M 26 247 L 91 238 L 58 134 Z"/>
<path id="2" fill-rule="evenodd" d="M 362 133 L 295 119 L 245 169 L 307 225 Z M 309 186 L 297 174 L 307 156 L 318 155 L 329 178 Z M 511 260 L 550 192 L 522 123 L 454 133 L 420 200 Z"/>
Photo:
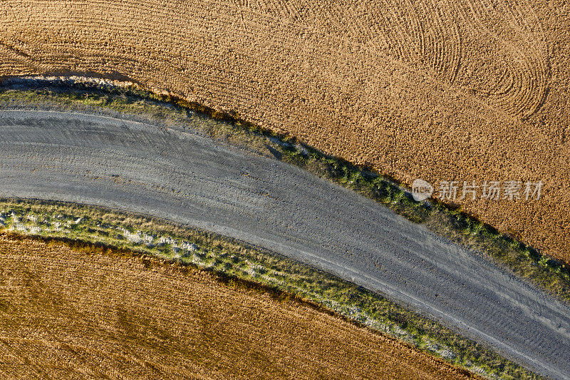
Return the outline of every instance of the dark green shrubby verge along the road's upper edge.
<path id="1" fill-rule="evenodd" d="M 119 86 L 118 86 L 119 85 Z M 7 78 L 0 85 L 0 108 L 82 111 L 183 128 L 261 155 L 297 165 L 380 202 L 408 220 L 423 223 L 437 235 L 491 259 L 570 305 L 570 267 L 494 227 L 431 200 L 416 202 L 391 178 L 358 168 L 297 143 L 287 135 L 262 130 L 239 118 L 180 98 L 158 96 L 139 86 L 93 78 Z"/>

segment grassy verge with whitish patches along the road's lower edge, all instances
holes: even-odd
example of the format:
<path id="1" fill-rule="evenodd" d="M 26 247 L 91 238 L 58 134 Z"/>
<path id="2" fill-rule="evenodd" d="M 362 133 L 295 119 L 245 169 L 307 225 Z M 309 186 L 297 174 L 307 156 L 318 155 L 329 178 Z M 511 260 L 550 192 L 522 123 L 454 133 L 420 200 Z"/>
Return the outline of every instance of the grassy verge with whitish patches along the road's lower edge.
<path id="1" fill-rule="evenodd" d="M 486 377 L 539 379 L 441 324 L 331 274 L 211 232 L 101 207 L 0 200 L 0 231 L 85 242 L 253 282 L 336 312 Z"/>

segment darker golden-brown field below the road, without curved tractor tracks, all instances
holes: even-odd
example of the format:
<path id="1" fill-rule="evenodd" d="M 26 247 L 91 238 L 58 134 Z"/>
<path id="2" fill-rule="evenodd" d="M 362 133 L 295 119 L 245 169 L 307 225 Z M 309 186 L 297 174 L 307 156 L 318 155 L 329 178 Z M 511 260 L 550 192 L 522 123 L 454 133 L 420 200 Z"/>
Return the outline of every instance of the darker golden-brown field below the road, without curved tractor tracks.
<path id="1" fill-rule="evenodd" d="M 4 379 L 473 377 L 309 304 L 207 272 L 5 233 L 0 315 Z"/>

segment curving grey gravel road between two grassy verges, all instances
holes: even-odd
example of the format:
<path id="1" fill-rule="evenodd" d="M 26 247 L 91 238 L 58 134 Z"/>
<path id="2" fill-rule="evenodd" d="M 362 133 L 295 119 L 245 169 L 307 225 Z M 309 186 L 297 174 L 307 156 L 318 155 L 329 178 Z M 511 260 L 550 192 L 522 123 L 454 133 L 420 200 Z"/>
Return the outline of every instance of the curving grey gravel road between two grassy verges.
<path id="1" fill-rule="evenodd" d="M 570 378 L 570 310 L 382 205 L 182 130 L 0 111 L 0 196 L 104 205 L 236 237 L 435 317 Z"/>

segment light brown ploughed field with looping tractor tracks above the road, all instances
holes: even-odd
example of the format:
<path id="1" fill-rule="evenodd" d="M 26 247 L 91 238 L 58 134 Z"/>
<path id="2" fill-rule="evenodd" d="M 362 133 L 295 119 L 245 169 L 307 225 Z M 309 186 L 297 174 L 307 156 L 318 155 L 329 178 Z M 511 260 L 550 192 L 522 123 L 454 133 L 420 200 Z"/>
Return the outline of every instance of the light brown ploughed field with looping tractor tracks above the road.
<path id="1" fill-rule="evenodd" d="M 0 25 L 0 75 L 130 78 L 408 185 L 542 180 L 459 203 L 570 260 L 565 0 L 8 0 Z"/>

